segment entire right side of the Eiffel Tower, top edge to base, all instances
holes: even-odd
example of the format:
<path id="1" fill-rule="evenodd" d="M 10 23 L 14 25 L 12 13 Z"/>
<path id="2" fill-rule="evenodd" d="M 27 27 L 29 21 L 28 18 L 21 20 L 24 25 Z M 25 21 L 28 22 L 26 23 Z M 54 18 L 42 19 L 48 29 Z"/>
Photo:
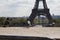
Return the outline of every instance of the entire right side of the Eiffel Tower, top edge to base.
<path id="1" fill-rule="evenodd" d="M 53 22 L 53 19 L 50 15 L 49 9 L 48 9 L 47 4 L 46 4 L 46 0 L 43 0 L 43 6 L 45 9 L 46 17 L 49 20 L 48 26 L 53 26 L 53 24 L 55 24 L 55 23 Z"/>

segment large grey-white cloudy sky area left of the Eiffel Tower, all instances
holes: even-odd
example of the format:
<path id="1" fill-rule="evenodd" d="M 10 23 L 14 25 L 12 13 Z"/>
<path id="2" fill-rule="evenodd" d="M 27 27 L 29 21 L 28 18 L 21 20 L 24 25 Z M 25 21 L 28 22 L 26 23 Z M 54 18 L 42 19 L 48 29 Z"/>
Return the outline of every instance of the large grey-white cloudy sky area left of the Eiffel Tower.
<path id="1" fill-rule="evenodd" d="M 0 16 L 29 15 L 33 2 L 30 0 L 0 0 Z"/>

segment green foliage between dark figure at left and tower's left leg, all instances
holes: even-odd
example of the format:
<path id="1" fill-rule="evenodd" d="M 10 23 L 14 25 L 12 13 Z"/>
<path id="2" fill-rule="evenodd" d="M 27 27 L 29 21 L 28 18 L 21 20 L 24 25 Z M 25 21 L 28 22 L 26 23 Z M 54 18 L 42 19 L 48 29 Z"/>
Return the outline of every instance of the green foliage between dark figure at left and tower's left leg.
<path id="1" fill-rule="evenodd" d="M 26 19 L 25 18 L 16 18 L 16 19 L 10 19 L 10 26 L 12 25 L 23 25 L 24 23 L 26 22 Z"/>

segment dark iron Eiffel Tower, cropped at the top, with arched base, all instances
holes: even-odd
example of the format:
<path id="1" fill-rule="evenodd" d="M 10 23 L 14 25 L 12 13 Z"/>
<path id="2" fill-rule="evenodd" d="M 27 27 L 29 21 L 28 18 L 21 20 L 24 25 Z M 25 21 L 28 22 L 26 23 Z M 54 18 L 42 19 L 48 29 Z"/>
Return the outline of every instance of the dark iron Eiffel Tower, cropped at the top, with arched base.
<path id="1" fill-rule="evenodd" d="M 42 1 L 44 9 L 38 9 L 40 1 Z M 48 26 L 52 26 L 55 23 L 53 22 L 53 19 L 52 19 L 51 15 L 50 15 L 49 11 L 50 10 L 47 7 L 46 0 L 36 0 L 34 8 L 32 9 L 32 13 L 29 16 L 29 18 L 27 19 L 27 21 L 29 21 L 31 23 L 31 25 L 33 25 L 33 20 L 34 20 L 34 18 L 36 16 L 38 16 L 38 15 L 44 15 L 49 20 Z"/>

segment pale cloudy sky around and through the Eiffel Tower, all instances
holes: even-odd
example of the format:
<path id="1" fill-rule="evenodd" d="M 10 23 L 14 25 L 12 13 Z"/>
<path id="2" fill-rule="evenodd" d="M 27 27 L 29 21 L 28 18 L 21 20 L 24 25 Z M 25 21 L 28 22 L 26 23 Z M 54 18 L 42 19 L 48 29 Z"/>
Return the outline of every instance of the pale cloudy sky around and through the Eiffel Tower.
<path id="1" fill-rule="evenodd" d="M 36 0 L 0 0 L 0 17 L 30 16 Z M 60 15 L 60 0 L 46 0 L 51 15 Z M 39 7 L 42 7 L 42 2 Z"/>

